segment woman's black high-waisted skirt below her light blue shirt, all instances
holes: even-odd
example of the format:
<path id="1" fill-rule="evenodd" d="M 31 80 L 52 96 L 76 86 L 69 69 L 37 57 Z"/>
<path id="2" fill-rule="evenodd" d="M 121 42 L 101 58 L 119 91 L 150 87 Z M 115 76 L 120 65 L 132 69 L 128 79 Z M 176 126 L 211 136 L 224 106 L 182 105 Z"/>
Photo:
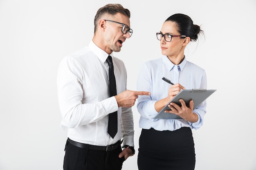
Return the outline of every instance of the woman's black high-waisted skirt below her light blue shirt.
<path id="1" fill-rule="evenodd" d="M 138 167 L 139 170 L 194 170 L 195 148 L 191 129 L 142 129 Z"/>

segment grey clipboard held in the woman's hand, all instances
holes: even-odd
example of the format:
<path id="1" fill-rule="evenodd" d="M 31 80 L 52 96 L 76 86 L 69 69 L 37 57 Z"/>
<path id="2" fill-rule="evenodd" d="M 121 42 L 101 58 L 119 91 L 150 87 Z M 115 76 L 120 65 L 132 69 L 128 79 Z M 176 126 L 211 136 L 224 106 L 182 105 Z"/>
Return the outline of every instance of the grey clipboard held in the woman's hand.
<path id="1" fill-rule="evenodd" d="M 193 99 L 194 107 L 193 110 L 199 106 L 204 100 L 206 100 L 210 95 L 212 95 L 216 90 L 207 89 L 191 89 L 191 90 L 181 90 L 173 99 L 168 102 L 174 102 L 175 104 L 181 106 L 179 99 L 183 99 L 186 106 L 189 106 L 189 101 Z M 154 119 L 182 119 L 180 116 L 173 113 L 164 113 L 164 110 L 171 110 L 168 104 L 154 117 Z"/>

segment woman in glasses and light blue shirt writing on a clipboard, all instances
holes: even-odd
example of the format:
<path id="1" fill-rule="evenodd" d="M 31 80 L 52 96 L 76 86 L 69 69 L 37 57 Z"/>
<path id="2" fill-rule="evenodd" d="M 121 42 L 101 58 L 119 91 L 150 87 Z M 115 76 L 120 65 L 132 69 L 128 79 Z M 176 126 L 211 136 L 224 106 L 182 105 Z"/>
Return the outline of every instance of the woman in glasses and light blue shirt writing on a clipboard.
<path id="1" fill-rule="evenodd" d="M 195 148 L 191 129 L 202 126 L 206 102 L 193 110 L 193 101 L 186 106 L 171 103 L 167 113 L 182 119 L 154 119 L 157 113 L 181 89 L 207 88 L 204 69 L 186 60 L 184 49 L 203 33 L 184 14 L 171 15 L 157 33 L 162 58 L 145 62 L 137 79 L 138 91 L 149 91 L 150 96 L 139 96 L 137 108 L 141 115 L 139 126 L 139 170 L 194 170 Z M 173 85 L 162 80 L 165 77 Z"/>

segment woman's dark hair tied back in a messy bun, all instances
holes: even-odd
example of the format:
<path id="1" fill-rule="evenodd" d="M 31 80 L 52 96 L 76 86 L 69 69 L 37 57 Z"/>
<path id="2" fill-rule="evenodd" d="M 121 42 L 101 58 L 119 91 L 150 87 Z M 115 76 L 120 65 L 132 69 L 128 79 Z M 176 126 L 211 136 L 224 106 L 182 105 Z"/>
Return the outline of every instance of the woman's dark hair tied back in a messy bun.
<path id="1" fill-rule="evenodd" d="M 177 31 L 180 33 L 180 35 L 190 37 L 191 41 L 193 42 L 198 39 L 198 35 L 200 33 L 204 33 L 204 31 L 200 29 L 200 26 L 193 24 L 193 21 L 188 15 L 184 15 L 182 13 L 173 14 L 167 18 L 166 21 L 175 22 L 177 25 Z"/>

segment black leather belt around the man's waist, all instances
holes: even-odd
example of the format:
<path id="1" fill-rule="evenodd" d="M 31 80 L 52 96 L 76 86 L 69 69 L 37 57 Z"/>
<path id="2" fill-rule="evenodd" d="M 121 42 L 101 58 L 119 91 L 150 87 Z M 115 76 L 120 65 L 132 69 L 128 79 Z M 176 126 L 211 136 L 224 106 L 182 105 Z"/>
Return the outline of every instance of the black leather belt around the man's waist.
<path id="1" fill-rule="evenodd" d="M 96 145 L 89 145 L 89 144 L 83 144 L 83 143 L 80 143 L 80 142 L 72 141 L 69 138 L 67 138 L 67 141 L 70 144 L 72 144 L 74 146 L 77 146 L 79 148 L 85 148 L 85 149 L 88 148 L 88 149 L 92 149 L 92 150 L 105 150 L 106 152 L 118 148 L 120 146 L 120 144 L 123 142 L 123 140 L 122 140 L 122 141 L 117 141 L 117 143 L 112 144 L 110 146 L 96 146 Z"/>

